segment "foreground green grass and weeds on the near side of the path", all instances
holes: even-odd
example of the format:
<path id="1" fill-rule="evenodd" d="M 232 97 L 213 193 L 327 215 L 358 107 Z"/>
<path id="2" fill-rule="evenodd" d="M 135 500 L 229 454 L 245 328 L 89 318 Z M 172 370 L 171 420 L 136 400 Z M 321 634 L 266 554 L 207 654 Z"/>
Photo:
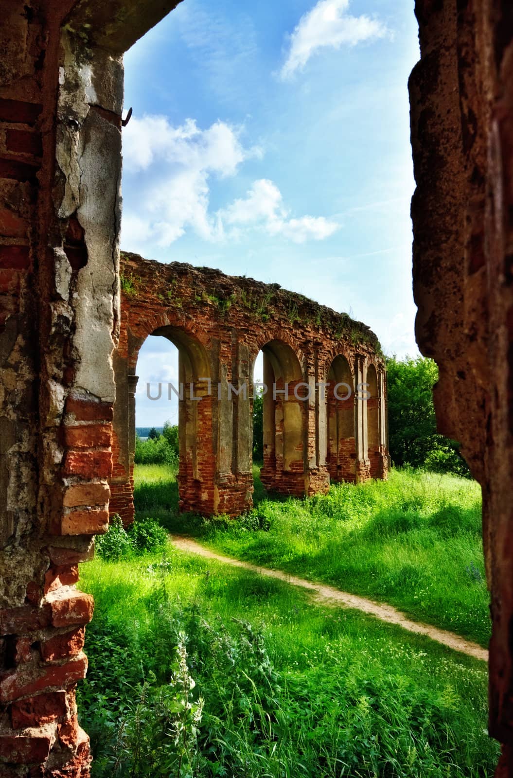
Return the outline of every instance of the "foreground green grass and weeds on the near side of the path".
<path id="1" fill-rule="evenodd" d="M 493 775 L 481 662 L 171 546 L 81 570 L 94 778 Z M 176 745 L 180 633 L 205 706 Z"/>

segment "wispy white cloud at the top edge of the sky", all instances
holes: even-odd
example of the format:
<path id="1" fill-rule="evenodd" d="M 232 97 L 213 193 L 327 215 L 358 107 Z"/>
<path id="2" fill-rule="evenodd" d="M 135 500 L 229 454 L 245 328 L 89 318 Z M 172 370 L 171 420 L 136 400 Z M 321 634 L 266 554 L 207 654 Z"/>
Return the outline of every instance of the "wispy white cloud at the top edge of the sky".
<path id="1" fill-rule="evenodd" d="M 290 49 L 281 71 L 283 79 L 304 68 L 311 55 L 322 47 L 356 46 L 390 34 L 375 16 L 351 16 L 347 13 L 349 5 L 350 0 L 318 0 L 301 16 L 290 35 Z"/>

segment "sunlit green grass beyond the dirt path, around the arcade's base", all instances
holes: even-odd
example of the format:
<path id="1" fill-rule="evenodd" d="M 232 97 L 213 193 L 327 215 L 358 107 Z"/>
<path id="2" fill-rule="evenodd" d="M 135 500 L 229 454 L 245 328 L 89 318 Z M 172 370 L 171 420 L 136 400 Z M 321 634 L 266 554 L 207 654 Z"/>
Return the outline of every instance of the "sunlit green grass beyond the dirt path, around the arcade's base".
<path id="1" fill-rule="evenodd" d="M 158 466 L 136 468 L 136 508 L 225 554 L 388 602 L 413 619 L 487 646 L 489 595 L 476 482 L 392 470 L 388 482 L 332 485 L 329 494 L 307 499 L 269 499 L 257 473 L 255 468 L 255 509 L 239 520 L 180 516 L 174 472 Z"/>

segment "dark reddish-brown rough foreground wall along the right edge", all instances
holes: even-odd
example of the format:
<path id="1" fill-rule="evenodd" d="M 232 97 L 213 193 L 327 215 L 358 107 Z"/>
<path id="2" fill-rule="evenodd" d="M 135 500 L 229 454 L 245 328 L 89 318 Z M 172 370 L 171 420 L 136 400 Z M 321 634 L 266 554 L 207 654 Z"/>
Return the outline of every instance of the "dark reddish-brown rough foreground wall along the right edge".
<path id="1" fill-rule="evenodd" d="M 417 0 L 410 79 L 416 337 L 436 359 L 438 429 L 483 487 L 490 734 L 513 775 L 513 6 Z"/>

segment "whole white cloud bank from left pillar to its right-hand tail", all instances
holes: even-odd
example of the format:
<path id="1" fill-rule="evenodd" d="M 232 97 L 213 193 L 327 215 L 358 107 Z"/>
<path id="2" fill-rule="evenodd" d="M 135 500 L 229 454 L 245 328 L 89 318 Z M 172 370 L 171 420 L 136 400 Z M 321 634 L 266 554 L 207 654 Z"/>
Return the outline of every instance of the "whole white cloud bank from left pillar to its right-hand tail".
<path id="1" fill-rule="evenodd" d="M 272 180 L 256 180 L 245 198 L 227 208 L 209 210 L 210 179 L 233 177 L 246 159 L 262 157 L 258 147 L 244 148 L 241 129 L 216 121 L 206 130 L 188 119 L 177 127 L 166 117 L 132 119 L 124 134 L 125 170 L 134 180 L 126 204 L 123 247 L 144 251 L 154 242 L 170 246 L 188 230 L 203 240 L 241 237 L 260 229 L 294 243 L 323 240 L 339 224 L 323 216 L 291 217 Z M 136 196 L 135 196 L 136 193 Z"/>

